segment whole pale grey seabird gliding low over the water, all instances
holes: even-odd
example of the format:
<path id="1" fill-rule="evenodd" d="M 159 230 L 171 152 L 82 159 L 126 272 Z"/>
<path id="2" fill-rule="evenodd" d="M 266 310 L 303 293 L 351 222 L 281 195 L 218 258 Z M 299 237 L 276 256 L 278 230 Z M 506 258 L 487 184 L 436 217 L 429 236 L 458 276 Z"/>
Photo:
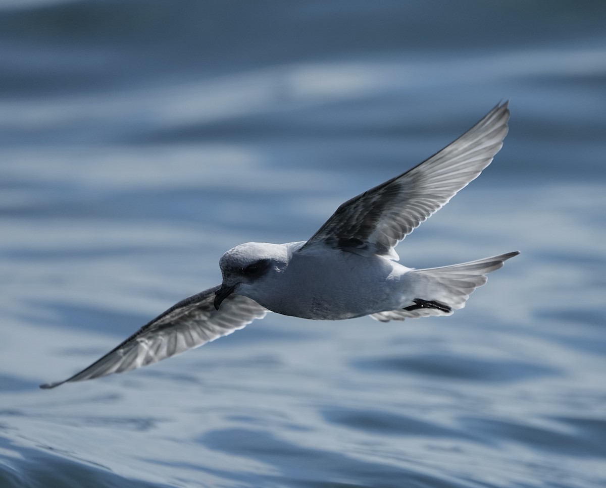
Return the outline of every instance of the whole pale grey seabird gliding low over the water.
<path id="1" fill-rule="evenodd" d="M 451 315 L 519 251 L 415 269 L 395 246 L 476 179 L 503 145 L 508 102 L 396 177 L 343 203 L 307 241 L 248 242 L 219 260 L 221 285 L 181 300 L 82 371 L 44 389 L 130 371 L 244 328 L 267 312 L 310 320 Z"/>

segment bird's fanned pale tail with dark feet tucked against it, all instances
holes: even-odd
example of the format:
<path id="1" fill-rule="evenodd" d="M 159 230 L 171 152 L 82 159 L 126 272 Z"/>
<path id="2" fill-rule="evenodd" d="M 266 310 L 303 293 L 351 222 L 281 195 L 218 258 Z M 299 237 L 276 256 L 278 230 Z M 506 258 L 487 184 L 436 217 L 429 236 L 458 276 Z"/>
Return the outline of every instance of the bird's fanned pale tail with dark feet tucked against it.
<path id="1" fill-rule="evenodd" d="M 388 321 L 428 315 L 451 315 L 453 310 L 465 306 L 474 289 L 486 283 L 486 275 L 489 272 L 502 268 L 506 260 L 518 254 L 519 251 L 514 251 L 459 265 L 413 269 L 409 274 L 409 284 L 415 294 L 411 305 L 373 314 L 371 317 Z"/>

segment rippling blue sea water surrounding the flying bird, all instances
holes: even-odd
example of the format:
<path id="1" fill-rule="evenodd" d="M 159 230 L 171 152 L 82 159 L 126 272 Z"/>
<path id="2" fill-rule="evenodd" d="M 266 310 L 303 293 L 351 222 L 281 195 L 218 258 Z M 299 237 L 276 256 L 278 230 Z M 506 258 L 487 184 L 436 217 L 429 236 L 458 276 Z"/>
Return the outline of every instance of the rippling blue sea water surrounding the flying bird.
<path id="1" fill-rule="evenodd" d="M 0 4 L 0 487 L 606 486 L 606 3 Z M 270 314 L 41 391 L 241 242 L 310 237 L 502 99 L 409 266 L 522 251 L 448 318 Z"/>

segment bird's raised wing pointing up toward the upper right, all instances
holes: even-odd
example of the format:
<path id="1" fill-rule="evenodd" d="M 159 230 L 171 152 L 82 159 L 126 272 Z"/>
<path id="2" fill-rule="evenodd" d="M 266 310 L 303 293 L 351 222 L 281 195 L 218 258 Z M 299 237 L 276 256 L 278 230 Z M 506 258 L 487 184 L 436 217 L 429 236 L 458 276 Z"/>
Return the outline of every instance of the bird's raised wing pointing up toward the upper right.
<path id="1" fill-rule="evenodd" d="M 416 167 L 343 203 L 301 251 L 325 245 L 398 259 L 394 246 L 478 177 L 503 145 L 508 102 Z"/>

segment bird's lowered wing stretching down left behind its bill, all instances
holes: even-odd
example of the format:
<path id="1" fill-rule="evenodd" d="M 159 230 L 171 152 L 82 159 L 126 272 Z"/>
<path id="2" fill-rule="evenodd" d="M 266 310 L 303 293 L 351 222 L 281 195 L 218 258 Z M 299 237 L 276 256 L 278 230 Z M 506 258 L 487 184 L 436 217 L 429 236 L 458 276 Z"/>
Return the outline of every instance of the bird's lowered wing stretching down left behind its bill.
<path id="1" fill-rule="evenodd" d="M 213 300 L 218 289 L 215 286 L 181 300 L 88 368 L 67 380 L 40 387 L 54 388 L 67 381 L 90 380 L 157 363 L 242 329 L 268 312 L 242 295 L 228 296 L 217 311 Z"/>

